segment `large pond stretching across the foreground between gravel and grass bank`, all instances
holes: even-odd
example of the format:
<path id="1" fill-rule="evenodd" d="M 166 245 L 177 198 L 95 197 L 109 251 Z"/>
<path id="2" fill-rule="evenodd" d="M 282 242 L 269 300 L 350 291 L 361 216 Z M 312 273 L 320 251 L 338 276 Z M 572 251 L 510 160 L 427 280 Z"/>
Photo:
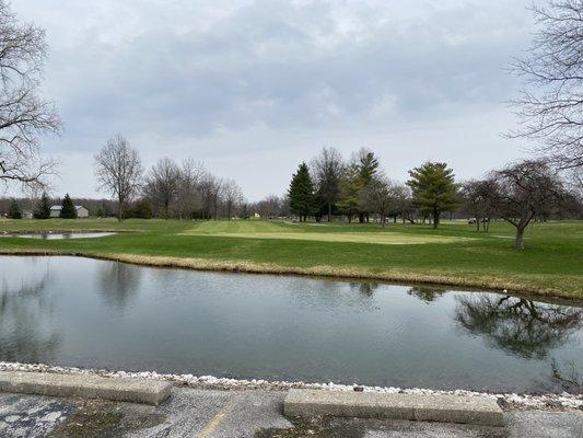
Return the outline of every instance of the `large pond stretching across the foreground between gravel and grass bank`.
<path id="1" fill-rule="evenodd" d="M 0 360 L 580 392 L 583 308 L 420 286 L 1 256 Z"/>

